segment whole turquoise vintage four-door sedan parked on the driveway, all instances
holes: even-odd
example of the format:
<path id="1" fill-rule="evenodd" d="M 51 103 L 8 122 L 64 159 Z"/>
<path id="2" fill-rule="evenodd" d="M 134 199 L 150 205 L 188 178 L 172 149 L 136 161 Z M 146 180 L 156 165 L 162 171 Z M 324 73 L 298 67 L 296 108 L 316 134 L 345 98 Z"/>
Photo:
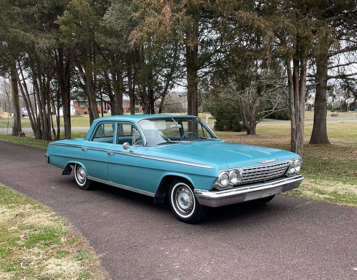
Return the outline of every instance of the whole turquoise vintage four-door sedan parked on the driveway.
<path id="1" fill-rule="evenodd" d="M 84 139 L 54 141 L 49 164 L 74 169 L 84 190 L 96 182 L 168 197 L 178 219 L 195 223 L 205 206 L 255 200 L 295 189 L 304 179 L 292 152 L 227 143 L 195 116 L 123 115 L 96 119 Z"/>

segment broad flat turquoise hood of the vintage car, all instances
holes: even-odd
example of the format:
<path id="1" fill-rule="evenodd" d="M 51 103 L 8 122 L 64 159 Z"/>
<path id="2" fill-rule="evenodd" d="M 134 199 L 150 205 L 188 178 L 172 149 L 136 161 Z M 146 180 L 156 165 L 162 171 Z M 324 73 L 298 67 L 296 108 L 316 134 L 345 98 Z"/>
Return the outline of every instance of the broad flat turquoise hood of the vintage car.
<path id="1" fill-rule="evenodd" d="M 299 158 L 293 152 L 267 147 L 227 143 L 224 141 L 197 141 L 192 144 L 170 144 L 157 146 L 158 149 L 177 153 L 210 157 L 223 161 L 228 168 L 246 167 L 261 164 L 258 161 L 276 159 L 275 162 Z"/>

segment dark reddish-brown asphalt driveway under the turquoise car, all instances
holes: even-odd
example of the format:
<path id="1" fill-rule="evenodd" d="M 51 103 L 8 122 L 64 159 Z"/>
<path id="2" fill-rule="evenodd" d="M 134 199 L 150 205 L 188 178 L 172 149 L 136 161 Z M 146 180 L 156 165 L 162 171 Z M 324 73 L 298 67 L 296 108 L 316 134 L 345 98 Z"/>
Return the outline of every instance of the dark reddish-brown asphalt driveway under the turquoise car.
<path id="1" fill-rule="evenodd" d="M 147 196 L 80 190 L 44 154 L 0 141 L 0 183 L 69 220 L 112 279 L 357 279 L 357 209 L 277 195 L 188 225 Z"/>

